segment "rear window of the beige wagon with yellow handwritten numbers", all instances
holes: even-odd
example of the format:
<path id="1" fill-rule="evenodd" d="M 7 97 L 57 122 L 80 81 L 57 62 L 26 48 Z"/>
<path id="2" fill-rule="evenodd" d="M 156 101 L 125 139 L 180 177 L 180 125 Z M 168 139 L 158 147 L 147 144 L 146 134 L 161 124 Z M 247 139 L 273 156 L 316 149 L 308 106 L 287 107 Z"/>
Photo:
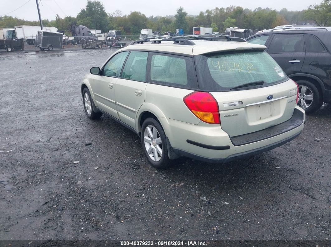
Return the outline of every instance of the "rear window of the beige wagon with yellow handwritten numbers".
<path id="1" fill-rule="evenodd" d="M 265 51 L 241 51 L 195 57 L 199 89 L 228 91 L 250 82 L 265 81 L 269 86 L 288 77 Z"/>

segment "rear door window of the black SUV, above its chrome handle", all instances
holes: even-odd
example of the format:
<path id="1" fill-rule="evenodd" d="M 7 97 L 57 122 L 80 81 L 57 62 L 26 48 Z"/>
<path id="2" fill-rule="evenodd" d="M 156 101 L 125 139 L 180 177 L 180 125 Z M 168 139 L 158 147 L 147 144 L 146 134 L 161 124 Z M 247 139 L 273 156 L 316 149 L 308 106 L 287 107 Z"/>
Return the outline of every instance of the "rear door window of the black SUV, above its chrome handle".
<path id="1" fill-rule="evenodd" d="M 270 43 L 269 53 L 305 52 L 302 35 L 275 35 Z"/>

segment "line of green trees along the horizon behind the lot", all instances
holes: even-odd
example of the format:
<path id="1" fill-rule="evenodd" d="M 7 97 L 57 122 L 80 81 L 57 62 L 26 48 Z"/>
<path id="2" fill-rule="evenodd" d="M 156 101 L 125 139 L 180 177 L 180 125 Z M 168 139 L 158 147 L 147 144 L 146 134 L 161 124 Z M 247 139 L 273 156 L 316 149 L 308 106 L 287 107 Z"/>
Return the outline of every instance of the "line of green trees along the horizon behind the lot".
<path id="1" fill-rule="evenodd" d="M 244 9 L 239 6 L 227 8 L 215 8 L 201 11 L 199 15 L 189 15 L 182 7 L 177 9 L 174 15 L 149 16 L 141 12 L 132 11 L 129 15 L 123 15 L 120 10 L 106 13 L 100 1 L 88 0 L 86 7 L 81 9 L 76 17 L 60 15 L 55 20 L 42 20 L 44 26 L 55 26 L 71 35 L 72 25 L 84 25 L 89 29 L 122 30 L 125 35 L 136 35 L 141 29 L 153 29 L 161 33 L 174 33 L 182 28 L 186 34 L 193 33 L 193 27 L 212 27 L 213 32 L 224 32 L 228 27 L 252 29 L 254 31 L 270 29 L 278 25 L 311 23 L 318 26 L 331 25 L 331 0 L 324 0 L 320 4 L 314 4 L 303 11 L 288 11 L 283 8 L 280 11 L 270 8 Z M 0 28 L 12 28 L 17 25 L 39 26 L 39 21 L 27 21 L 12 16 L 0 16 Z"/>

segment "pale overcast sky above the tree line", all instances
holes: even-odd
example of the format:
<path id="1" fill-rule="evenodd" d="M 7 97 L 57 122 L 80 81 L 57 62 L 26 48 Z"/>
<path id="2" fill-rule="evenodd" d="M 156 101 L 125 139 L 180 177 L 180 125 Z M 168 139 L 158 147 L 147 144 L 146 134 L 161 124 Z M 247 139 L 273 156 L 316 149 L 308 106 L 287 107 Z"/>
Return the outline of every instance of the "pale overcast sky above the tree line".
<path id="1" fill-rule="evenodd" d="M 40 0 L 38 0 L 40 1 Z M 0 4 L 0 15 L 11 15 L 16 16 L 25 20 L 38 20 L 38 12 L 35 0 L 0 0 L 3 2 Z M 6 2 L 6 4 L 4 4 Z M 8 4 L 10 2 L 10 4 Z M 27 3 L 26 3 L 27 2 Z M 42 19 L 54 20 L 55 15 L 59 14 L 61 17 L 71 15 L 75 17 L 78 12 L 85 8 L 85 0 L 41 0 L 40 12 Z M 275 10 L 281 10 L 282 8 L 287 8 L 289 11 L 301 11 L 307 9 L 309 5 L 320 3 L 321 0 L 314 2 L 309 0 L 301 1 L 288 1 L 288 0 L 278 0 L 278 1 L 265 1 L 265 0 L 233 0 L 233 1 L 211 1 L 211 0 L 165 0 L 165 1 L 153 1 L 153 0 L 100 0 L 103 3 L 107 13 L 113 13 L 116 10 L 120 10 L 123 15 L 129 15 L 131 11 L 139 11 L 145 14 L 147 17 L 153 15 L 175 15 L 176 10 L 182 6 L 184 11 L 189 15 L 198 15 L 200 11 L 212 10 L 214 8 L 226 8 L 229 5 L 241 6 L 243 8 L 248 8 L 254 10 L 255 8 L 261 7 L 271 8 Z M 23 7 L 24 3 L 26 3 Z M 17 9 L 19 8 L 19 9 Z M 17 9 L 17 10 L 15 10 Z M 15 11 L 14 11 L 15 10 Z M 10 13 L 11 12 L 11 13 Z"/>

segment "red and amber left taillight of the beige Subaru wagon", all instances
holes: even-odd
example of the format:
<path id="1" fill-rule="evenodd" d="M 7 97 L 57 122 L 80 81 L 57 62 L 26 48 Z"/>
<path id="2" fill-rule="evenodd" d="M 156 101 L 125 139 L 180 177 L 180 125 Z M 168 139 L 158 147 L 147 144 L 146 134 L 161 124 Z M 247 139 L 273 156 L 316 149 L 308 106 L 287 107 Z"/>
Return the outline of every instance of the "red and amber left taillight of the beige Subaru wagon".
<path id="1" fill-rule="evenodd" d="M 207 92 L 193 92 L 186 95 L 183 101 L 200 120 L 220 124 L 218 104 L 213 95 Z"/>

